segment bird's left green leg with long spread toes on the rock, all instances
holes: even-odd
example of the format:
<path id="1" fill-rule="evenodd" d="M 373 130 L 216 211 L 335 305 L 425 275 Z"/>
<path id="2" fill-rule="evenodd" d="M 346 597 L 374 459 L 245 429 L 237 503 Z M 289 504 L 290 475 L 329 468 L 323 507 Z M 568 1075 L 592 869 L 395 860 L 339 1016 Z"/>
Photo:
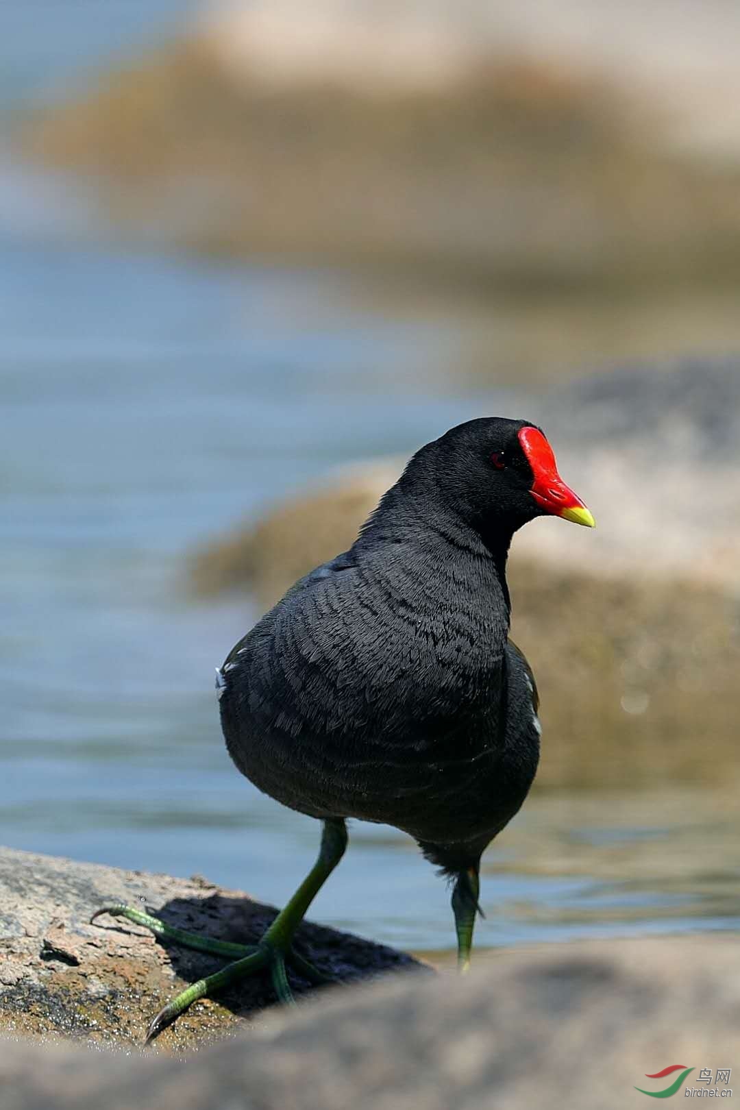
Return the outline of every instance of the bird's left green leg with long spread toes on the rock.
<path id="1" fill-rule="evenodd" d="M 101 914 L 124 917 L 136 925 L 143 925 L 162 939 L 172 940 L 185 948 L 210 952 L 213 956 L 229 956 L 234 960 L 222 971 L 207 976 L 205 979 L 199 979 L 197 982 L 183 990 L 164 1009 L 160 1010 L 149 1026 L 146 1041 L 156 1037 L 165 1026 L 174 1021 L 199 998 L 214 995 L 235 980 L 252 975 L 261 968 L 270 969 L 275 993 L 280 1001 L 285 1003 L 295 1001 L 287 982 L 286 963 L 311 982 L 331 981 L 327 976 L 322 975 L 313 965 L 294 952 L 292 942 L 295 930 L 305 917 L 308 906 L 342 859 L 346 846 L 347 829 L 344 821 L 341 819 L 324 821 L 318 859 L 257 945 L 235 945 L 226 940 L 211 940 L 209 937 L 201 937 L 194 932 L 185 932 L 183 929 L 165 925 L 159 918 L 151 917 L 132 906 L 119 904 L 99 909 L 97 914 L 93 914 L 93 921 Z"/>

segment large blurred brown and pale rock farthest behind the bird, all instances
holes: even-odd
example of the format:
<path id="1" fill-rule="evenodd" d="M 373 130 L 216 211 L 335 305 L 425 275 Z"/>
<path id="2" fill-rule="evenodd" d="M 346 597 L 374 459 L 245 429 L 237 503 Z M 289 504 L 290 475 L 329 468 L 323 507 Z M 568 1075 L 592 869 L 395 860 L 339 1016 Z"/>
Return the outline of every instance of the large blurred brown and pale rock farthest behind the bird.
<path id="1" fill-rule="evenodd" d="M 650 37 L 637 4 L 216 8 L 29 148 L 102 178 L 134 226 L 221 253 L 509 294 L 732 281 L 740 21 L 655 9 Z"/>

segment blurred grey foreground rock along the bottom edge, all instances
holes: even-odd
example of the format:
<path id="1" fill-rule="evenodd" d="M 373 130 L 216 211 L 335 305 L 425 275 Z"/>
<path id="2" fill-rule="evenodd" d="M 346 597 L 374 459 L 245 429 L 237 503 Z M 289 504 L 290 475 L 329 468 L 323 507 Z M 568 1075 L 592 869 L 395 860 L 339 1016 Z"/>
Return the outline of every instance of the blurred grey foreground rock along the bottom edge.
<path id="1" fill-rule="evenodd" d="M 738 1021 L 733 938 L 554 945 L 331 992 L 184 1063 L 0 1042 L 2 1107 L 624 1110 L 673 1078 L 646 1073 L 682 1063 L 702 1091 L 701 1069 L 732 1069 Z"/>

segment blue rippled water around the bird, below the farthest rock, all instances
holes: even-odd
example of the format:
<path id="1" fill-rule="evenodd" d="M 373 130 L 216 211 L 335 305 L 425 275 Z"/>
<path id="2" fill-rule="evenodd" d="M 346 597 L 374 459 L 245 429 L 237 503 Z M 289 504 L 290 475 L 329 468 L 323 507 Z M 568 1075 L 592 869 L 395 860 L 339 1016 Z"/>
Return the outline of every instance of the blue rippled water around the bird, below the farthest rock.
<path id="1" fill-rule="evenodd" d="M 190 599 L 183 555 L 493 402 L 435 396 L 439 329 L 357 309 L 331 275 L 18 238 L 0 271 L 0 840 L 280 902 L 318 830 L 226 756 L 213 667 L 254 614 Z M 672 798 L 530 799 L 486 857 L 480 941 L 737 927 L 734 811 Z M 719 860 L 704 882 L 701 852 L 681 879 L 689 815 Z M 314 915 L 453 940 L 443 884 L 383 827 L 355 827 Z"/>

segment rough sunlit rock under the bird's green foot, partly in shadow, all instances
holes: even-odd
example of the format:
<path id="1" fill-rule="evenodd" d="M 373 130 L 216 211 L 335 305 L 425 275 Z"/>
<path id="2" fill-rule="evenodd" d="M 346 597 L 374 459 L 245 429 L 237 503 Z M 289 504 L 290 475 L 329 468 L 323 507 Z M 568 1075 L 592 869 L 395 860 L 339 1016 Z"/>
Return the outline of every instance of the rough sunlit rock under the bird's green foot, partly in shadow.
<path id="1" fill-rule="evenodd" d="M 246 944 L 275 914 L 205 879 L 0 849 L 0 1032 L 138 1046 L 148 1019 L 170 998 L 223 967 L 223 960 L 156 941 L 122 918 L 89 924 L 97 909 L 121 901 L 145 905 L 182 929 Z M 422 967 L 389 948 L 311 924 L 301 927 L 297 947 L 338 980 Z M 310 989 L 293 981 L 297 991 Z M 158 1048 L 201 1046 L 253 1023 L 273 1003 L 268 979 L 255 976 L 217 1001 L 197 1003 L 161 1035 Z"/>

